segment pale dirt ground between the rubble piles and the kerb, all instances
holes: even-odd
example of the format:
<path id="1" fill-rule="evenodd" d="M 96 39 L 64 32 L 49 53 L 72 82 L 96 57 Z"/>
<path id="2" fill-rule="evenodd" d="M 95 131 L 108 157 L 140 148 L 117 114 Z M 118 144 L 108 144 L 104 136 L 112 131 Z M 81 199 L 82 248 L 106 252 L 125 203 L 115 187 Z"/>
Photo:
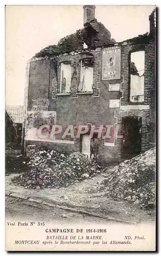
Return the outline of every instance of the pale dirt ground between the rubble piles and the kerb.
<path id="1" fill-rule="evenodd" d="M 25 189 L 22 186 L 14 185 L 11 179 L 17 174 L 10 174 L 6 176 L 6 189 L 12 191 L 12 193 L 43 199 L 58 205 L 77 207 L 124 221 L 154 222 L 154 210 L 140 209 L 134 203 L 114 200 L 104 193 L 106 175 L 111 172 L 111 168 L 116 167 L 111 166 L 106 173 L 68 187 L 46 189 Z"/>

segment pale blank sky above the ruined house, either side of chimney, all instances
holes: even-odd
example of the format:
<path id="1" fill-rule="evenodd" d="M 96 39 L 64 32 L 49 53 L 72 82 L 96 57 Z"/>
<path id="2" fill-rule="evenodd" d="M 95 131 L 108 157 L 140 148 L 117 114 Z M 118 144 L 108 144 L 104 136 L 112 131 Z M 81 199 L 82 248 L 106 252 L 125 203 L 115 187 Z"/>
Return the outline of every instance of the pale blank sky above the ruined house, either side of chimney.
<path id="1" fill-rule="evenodd" d="M 153 5 L 96 6 L 98 22 L 117 42 L 149 32 Z M 6 6 L 6 104 L 23 105 L 27 61 L 83 28 L 83 7 Z"/>

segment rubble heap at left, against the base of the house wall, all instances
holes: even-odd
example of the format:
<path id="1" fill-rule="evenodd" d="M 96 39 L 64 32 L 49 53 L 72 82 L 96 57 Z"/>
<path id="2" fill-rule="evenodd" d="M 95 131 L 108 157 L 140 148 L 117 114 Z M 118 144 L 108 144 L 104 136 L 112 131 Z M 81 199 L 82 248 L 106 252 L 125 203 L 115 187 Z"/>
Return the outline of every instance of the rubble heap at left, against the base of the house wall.
<path id="1" fill-rule="evenodd" d="M 31 147 L 30 170 L 12 181 L 25 188 L 68 186 L 101 172 L 100 166 L 81 153 L 60 154 L 43 147 Z"/>

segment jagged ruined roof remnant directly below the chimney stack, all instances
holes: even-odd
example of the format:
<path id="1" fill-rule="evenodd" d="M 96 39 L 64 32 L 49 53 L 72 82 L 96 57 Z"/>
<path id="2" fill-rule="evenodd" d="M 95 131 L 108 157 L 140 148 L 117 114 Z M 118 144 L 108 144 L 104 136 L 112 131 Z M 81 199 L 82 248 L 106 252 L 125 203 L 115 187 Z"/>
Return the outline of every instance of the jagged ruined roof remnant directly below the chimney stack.
<path id="1" fill-rule="evenodd" d="M 83 29 L 79 29 L 76 33 L 61 38 L 58 45 L 48 46 L 35 54 L 35 57 L 52 57 L 60 53 L 69 53 L 83 49 L 83 44 L 88 49 L 99 47 L 102 45 L 112 44 L 116 40 L 111 38 L 111 33 L 105 26 L 98 22 L 96 18 L 86 23 Z"/>

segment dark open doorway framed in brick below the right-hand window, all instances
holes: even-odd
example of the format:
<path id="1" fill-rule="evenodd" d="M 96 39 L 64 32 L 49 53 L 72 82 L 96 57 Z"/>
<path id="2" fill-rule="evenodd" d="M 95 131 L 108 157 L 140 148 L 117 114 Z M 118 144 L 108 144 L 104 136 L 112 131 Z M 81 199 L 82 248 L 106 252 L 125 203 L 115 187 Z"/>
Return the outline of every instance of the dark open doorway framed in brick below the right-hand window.
<path id="1" fill-rule="evenodd" d="M 123 118 L 123 158 L 130 159 L 142 150 L 142 118 Z"/>

